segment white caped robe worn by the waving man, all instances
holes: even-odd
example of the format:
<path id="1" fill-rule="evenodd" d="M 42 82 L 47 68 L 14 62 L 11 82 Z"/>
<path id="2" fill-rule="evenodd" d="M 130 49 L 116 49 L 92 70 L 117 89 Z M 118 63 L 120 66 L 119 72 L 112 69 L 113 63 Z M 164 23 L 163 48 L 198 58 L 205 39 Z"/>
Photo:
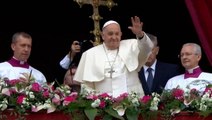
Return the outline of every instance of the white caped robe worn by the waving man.
<path id="1" fill-rule="evenodd" d="M 108 50 L 104 44 L 95 46 L 83 53 L 74 80 L 113 97 L 125 92 L 143 96 L 138 71 L 145 64 L 152 47 L 146 34 L 141 40 L 122 40 L 117 50 Z M 111 78 L 109 71 L 113 62 Z"/>

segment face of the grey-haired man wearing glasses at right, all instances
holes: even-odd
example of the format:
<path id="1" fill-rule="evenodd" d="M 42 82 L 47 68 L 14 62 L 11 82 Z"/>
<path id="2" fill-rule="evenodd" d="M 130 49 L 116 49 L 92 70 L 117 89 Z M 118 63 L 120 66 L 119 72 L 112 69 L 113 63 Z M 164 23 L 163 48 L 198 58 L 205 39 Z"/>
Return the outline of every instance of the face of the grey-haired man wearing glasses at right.
<path id="1" fill-rule="evenodd" d="M 198 66 L 201 59 L 200 47 L 195 46 L 195 44 L 185 44 L 183 45 L 180 52 L 181 64 L 185 69 L 192 69 Z"/>

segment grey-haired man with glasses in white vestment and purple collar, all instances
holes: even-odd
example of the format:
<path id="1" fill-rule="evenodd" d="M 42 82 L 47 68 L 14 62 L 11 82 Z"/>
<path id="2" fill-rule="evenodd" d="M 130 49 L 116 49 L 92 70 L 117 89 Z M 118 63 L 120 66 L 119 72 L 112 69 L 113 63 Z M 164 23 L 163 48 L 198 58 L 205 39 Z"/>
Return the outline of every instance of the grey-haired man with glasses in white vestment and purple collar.
<path id="1" fill-rule="evenodd" d="M 165 86 L 166 90 L 179 87 L 185 91 L 194 88 L 203 92 L 208 84 L 212 84 L 212 74 L 202 72 L 199 66 L 202 52 L 198 44 L 184 44 L 179 57 L 186 72 L 169 79 Z"/>

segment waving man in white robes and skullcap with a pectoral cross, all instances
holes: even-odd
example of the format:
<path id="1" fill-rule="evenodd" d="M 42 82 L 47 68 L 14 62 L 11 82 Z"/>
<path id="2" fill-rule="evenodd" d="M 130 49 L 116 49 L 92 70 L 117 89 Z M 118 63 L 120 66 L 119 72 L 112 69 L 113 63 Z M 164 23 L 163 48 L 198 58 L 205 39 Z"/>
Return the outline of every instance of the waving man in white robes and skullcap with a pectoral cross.
<path id="1" fill-rule="evenodd" d="M 144 95 L 138 71 L 150 55 L 153 43 L 142 31 L 139 17 L 132 17 L 131 21 L 128 28 L 137 39 L 121 40 L 121 28 L 116 21 L 103 25 L 103 44 L 83 53 L 75 73 L 74 80 L 81 82 L 81 87 L 113 97 L 130 92 Z"/>

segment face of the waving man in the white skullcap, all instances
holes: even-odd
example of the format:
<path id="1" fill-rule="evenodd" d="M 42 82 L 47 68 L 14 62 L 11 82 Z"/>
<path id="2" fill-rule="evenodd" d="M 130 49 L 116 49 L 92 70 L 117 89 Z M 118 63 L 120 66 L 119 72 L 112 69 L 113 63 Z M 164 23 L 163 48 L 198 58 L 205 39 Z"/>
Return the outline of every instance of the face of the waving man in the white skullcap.
<path id="1" fill-rule="evenodd" d="M 118 24 L 110 24 L 106 26 L 102 31 L 102 39 L 108 49 L 114 50 L 119 47 L 121 40 L 121 29 Z"/>

